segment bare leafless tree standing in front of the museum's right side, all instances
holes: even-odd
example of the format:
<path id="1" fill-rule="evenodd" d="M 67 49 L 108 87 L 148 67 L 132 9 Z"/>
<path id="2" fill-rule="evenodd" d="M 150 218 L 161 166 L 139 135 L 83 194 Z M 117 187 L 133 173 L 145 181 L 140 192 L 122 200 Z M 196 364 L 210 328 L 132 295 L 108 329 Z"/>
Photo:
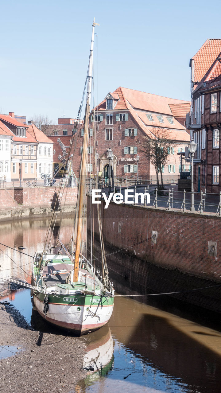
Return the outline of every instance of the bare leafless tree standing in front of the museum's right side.
<path id="1" fill-rule="evenodd" d="M 164 189 L 162 168 L 166 165 L 168 155 L 174 147 L 174 140 L 170 137 L 170 130 L 160 127 L 151 129 L 153 138 L 145 136 L 142 142 L 142 151 L 145 156 L 152 162 L 157 174 L 157 188 Z M 158 173 L 160 172 L 161 185 L 159 183 Z"/>

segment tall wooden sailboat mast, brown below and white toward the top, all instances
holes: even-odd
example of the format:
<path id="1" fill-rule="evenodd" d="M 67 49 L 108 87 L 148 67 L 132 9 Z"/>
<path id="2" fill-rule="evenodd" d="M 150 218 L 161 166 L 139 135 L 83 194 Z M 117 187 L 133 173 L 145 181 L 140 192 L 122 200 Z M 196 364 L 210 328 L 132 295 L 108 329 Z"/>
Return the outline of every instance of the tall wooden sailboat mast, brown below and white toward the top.
<path id="1" fill-rule="evenodd" d="M 86 165 L 87 165 L 87 149 L 88 149 L 88 136 L 89 136 L 89 116 L 90 116 L 90 101 L 91 101 L 91 86 L 92 86 L 92 66 L 93 66 L 93 54 L 94 54 L 94 28 L 98 23 L 93 22 L 92 24 L 92 37 L 90 44 L 90 56 L 89 66 L 87 75 L 87 96 L 85 106 L 85 124 L 84 124 L 84 137 L 83 137 L 83 149 L 81 157 L 81 169 L 79 176 L 78 196 L 79 196 L 79 208 L 77 217 L 77 232 L 76 232 L 76 250 L 74 259 L 74 275 L 73 281 L 78 281 L 78 270 L 79 270 L 79 254 L 81 245 L 81 228 L 82 228 L 82 216 L 83 216 L 83 200 L 85 193 L 85 178 L 86 178 Z M 98 25 L 99 26 L 99 25 Z"/>

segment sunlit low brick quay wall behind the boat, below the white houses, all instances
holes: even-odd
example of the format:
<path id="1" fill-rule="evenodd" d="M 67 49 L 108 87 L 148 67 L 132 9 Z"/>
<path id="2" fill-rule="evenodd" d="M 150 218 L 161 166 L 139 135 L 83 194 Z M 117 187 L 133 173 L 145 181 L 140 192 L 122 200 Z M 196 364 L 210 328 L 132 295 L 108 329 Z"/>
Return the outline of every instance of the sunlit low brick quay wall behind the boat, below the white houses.
<path id="1" fill-rule="evenodd" d="M 51 200 L 56 200 L 56 187 L 0 189 L 0 221 L 20 219 L 51 212 Z M 77 188 L 62 189 L 61 212 L 75 211 Z M 65 206 L 64 206 L 65 200 Z"/>

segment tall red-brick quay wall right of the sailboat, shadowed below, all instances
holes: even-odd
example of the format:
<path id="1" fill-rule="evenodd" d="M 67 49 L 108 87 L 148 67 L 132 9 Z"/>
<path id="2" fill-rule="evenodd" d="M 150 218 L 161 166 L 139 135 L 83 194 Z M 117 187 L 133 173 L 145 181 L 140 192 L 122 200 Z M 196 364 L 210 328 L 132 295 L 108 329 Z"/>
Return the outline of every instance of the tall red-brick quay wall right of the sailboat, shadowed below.
<path id="1" fill-rule="evenodd" d="M 99 253 L 96 205 L 92 205 L 93 216 Z M 90 203 L 87 217 L 89 232 Z M 221 312 L 221 286 L 214 286 L 221 284 L 221 217 L 113 202 L 107 209 L 101 202 L 101 217 L 106 255 L 124 249 L 107 256 L 110 280 L 121 292 L 188 290 L 174 296 Z M 153 233 L 156 243 L 151 239 Z M 190 291 L 206 286 L 213 288 Z"/>

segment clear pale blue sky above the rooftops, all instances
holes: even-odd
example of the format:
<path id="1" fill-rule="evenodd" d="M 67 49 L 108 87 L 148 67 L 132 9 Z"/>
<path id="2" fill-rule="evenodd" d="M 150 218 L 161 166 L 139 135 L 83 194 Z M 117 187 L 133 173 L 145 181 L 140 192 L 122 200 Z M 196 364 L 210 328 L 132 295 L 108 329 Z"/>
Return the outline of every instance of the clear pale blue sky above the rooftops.
<path id="1" fill-rule="evenodd" d="M 204 0 L 2 0 L 0 113 L 77 116 L 94 17 L 95 103 L 119 86 L 190 100 L 189 60 L 221 38 L 220 11 Z"/>

